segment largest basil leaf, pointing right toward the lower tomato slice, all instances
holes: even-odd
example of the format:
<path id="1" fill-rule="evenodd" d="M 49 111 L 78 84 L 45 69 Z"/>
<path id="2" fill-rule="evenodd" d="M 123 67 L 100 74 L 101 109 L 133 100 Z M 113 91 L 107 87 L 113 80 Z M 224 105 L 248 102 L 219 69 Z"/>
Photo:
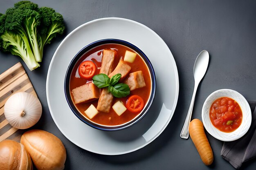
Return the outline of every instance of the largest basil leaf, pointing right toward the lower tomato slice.
<path id="1" fill-rule="evenodd" d="M 108 91 L 112 93 L 113 96 L 121 98 L 126 97 L 130 94 L 130 88 L 127 84 L 119 83 L 115 86 L 109 86 Z"/>

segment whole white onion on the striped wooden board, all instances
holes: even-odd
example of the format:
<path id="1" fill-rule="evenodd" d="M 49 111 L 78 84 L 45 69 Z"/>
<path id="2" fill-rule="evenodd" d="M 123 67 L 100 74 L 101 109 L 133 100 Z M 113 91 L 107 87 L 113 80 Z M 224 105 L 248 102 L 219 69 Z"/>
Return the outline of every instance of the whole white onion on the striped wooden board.
<path id="1" fill-rule="evenodd" d="M 26 92 L 13 94 L 4 104 L 4 116 L 11 126 L 27 129 L 34 126 L 42 115 L 37 97 Z"/>

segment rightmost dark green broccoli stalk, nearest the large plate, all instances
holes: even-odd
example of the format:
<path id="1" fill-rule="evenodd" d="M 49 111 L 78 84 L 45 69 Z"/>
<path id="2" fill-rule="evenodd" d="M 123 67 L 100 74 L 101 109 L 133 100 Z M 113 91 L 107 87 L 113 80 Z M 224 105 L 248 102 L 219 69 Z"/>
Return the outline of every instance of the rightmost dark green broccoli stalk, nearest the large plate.
<path id="1" fill-rule="evenodd" d="M 38 45 L 40 55 L 43 57 L 43 48 L 45 44 L 50 44 L 57 34 L 63 34 L 65 25 L 63 22 L 63 16 L 60 13 L 55 12 L 52 8 L 41 7 L 38 12 L 42 16 Z"/>

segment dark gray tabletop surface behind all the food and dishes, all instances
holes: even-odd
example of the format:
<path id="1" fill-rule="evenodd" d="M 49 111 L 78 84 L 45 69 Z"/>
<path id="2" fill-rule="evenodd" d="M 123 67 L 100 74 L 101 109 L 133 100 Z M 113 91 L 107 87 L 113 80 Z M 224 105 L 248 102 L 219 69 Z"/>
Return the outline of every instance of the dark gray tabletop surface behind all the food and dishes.
<path id="1" fill-rule="evenodd" d="M 1 0 L 0 13 L 16 0 Z M 153 29 L 166 42 L 175 58 L 180 93 L 174 116 L 166 130 L 148 146 L 119 155 L 97 155 L 67 140 L 58 130 L 49 113 L 45 83 L 54 51 L 65 35 L 55 39 L 44 50 L 43 63 L 35 71 L 22 62 L 43 105 L 43 115 L 34 126 L 59 137 L 67 150 L 65 170 L 201 170 L 234 168 L 220 156 L 222 141 L 207 133 L 214 161 L 205 166 L 191 139 L 180 138 L 193 93 L 193 64 L 198 53 L 210 54 L 208 71 L 195 98 L 192 118 L 201 119 L 204 100 L 221 88 L 238 91 L 248 100 L 256 100 L 256 2 L 216 0 L 33 0 L 40 7 L 56 9 L 64 17 L 65 35 L 77 26 L 104 17 L 135 20 Z M 157 49 L 156 49 L 157 50 Z M 159 51 L 161 56 L 161 51 Z M 63 56 L 65 57 L 65 56 Z M 17 62 L 19 57 L 0 52 L 0 73 Z M 254 170 L 256 159 L 241 169 Z"/>

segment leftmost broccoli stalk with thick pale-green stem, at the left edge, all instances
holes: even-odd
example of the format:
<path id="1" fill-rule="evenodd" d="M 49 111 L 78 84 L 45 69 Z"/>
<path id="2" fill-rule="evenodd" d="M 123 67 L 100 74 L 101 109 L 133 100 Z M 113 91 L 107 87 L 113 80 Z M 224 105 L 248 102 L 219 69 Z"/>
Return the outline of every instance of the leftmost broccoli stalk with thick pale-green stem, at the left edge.
<path id="1" fill-rule="evenodd" d="M 11 13 L 12 11 L 12 13 Z M 23 10 L 22 10 L 23 11 Z M 19 9 L 8 9 L 7 13 L 0 15 L 0 46 L 2 51 L 9 51 L 18 55 L 27 64 L 29 70 L 34 70 L 38 64 L 29 45 L 29 39 L 22 27 L 22 14 Z M 22 14 L 22 15 L 21 15 Z"/>

